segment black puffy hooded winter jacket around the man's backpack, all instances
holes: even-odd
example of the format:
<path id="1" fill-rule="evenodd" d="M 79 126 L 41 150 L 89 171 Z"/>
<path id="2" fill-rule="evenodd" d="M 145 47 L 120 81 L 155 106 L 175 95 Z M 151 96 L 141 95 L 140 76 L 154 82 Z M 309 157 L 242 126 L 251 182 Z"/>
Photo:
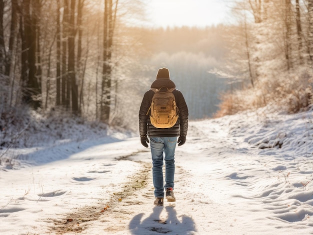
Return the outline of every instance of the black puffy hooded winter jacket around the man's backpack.
<path id="1" fill-rule="evenodd" d="M 175 87 L 175 84 L 168 78 L 158 78 L 152 83 L 151 88 L 161 88 L 164 86 L 170 89 L 172 87 Z M 149 137 L 175 137 L 187 135 L 188 108 L 186 102 L 183 98 L 182 93 L 179 90 L 175 89 L 172 93 L 175 96 L 176 106 L 179 110 L 179 118 L 173 127 L 156 128 L 150 122 L 149 113 L 148 115 L 146 115 L 151 105 L 154 92 L 152 90 L 148 90 L 147 92 L 145 92 L 139 110 L 140 137 L 145 137 L 146 135 L 148 135 Z"/>

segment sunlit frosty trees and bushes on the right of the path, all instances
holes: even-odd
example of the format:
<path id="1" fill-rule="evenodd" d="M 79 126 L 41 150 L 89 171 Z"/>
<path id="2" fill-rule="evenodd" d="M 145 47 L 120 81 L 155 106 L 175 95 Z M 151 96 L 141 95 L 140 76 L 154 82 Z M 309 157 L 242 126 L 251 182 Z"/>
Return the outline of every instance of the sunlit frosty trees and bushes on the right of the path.
<path id="1" fill-rule="evenodd" d="M 230 74 L 248 82 L 221 95 L 215 116 L 267 107 L 295 113 L 312 104 L 312 0 L 236 1 Z M 236 61 L 236 62 L 234 62 Z"/>

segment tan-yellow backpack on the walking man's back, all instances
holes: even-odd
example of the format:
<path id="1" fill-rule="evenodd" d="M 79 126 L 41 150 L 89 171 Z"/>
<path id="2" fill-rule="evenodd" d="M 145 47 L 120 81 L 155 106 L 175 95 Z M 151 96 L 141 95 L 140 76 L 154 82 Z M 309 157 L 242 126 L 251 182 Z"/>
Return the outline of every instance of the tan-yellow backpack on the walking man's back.
<path id="1" fill-rule="evenodd" d="M 154 95 L 146 115 L 151 111 L 150 121 L 156 128 L 170 128 L 177 122 L 179 111 L 176 106 L 175 96 L 172 93 L 174 89 L 168 89 L 167 87 L 151 88 Z"/>

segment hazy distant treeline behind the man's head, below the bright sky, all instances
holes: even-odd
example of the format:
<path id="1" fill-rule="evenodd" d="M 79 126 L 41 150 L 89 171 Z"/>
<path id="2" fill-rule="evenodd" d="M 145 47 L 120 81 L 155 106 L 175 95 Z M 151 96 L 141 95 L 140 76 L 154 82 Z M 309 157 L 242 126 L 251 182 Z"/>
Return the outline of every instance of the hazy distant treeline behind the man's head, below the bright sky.
<path id="1" fill-rule="evenodd" d="M 228 46 L 224 32 L 227 27 L 135 30 L 140 30 L 142 45 L 148 51 L 141 55 L 141 63 L 151 68 L 143 72 L 143 76 L 152 82 L 159 67 L 168 67 L 176 88 L 185 96 L 189 117 L 211 117 L 218 109 L 220 93 L 230 89 L 230 78 L 212 73 L 216 68 L 222 69 L 225 62 Z"/>

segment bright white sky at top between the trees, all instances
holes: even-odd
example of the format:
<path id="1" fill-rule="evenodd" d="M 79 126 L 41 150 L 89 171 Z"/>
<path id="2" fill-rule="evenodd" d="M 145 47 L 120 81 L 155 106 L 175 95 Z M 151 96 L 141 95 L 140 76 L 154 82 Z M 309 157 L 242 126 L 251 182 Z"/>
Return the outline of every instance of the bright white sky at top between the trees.
<path id="1" fill-rule="evenodd" d="M 205 27 L 229 21 L 229 7 L 225 0 L 149 0 L 148 26 Z"/>

